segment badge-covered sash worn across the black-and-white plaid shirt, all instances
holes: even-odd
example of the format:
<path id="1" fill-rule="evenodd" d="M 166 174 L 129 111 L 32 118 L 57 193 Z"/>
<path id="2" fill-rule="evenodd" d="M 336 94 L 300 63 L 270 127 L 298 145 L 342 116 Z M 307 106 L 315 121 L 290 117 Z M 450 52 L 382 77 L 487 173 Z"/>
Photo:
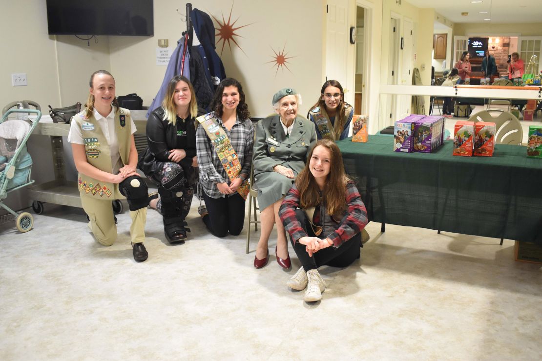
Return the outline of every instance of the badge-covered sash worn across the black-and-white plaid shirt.
<path id="1" fill-rule="evenodd" d="M 233 180 L 241 173 L 241 163 L 239 162 L 237 153 L 235 153 L 234 148 L 231 146 L 228 135 L 226 135 L 226 132 L 224 132 L 222 127 L 218 126 L 218 121 L 215 119 L 214 115 L 205 114 L 198 116 L 196 119 L 203 129 L 205 129 L 205 133 L 207 133 L 207 136 L 215 146 L 215 152 L 218 155 L 218 159 L 220 159 L 226 174 L 228 174 L 228 178 L 233 182 Z M 248 184 L 248 179 L 246 179 L 237 188 L 237 193 L 241 194 L 243 199 L 246 200 L 249 192 L 250 186 Z"/>

